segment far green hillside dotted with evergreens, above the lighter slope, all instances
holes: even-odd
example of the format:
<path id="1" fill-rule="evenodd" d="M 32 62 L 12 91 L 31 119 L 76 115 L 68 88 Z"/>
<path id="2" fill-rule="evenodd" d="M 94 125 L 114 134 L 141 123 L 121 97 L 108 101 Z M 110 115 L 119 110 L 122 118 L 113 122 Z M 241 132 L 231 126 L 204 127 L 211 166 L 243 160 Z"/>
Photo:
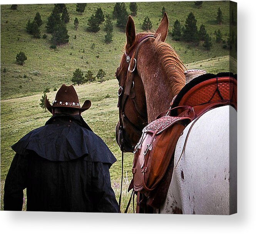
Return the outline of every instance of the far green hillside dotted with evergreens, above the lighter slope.
<path id="1" fill-rule="evenodd" d="M 42 17 L 43 25 L 40 27 L 41 35 L 46 33 L 47 17 L 52 12 L 53 4 L 18 5 L 17 10 L 11 10 L 10 5 L 1 5 L 1 99 L 22 97 L 42 92 L 44 87 L 59 87 L 62 83 L 71 84 L 70 78 L 76 68 L 87 71 L 91 69 L 97 74 L 99 68 L 104 69 L 107 79 L 114 78 L 114 72 L 119 65 L 122 48 L 125 45 L 125 34 L 114 24 L 113 42 L 104 43 L 105 32 L 103 24 L 98 33 L 86 31 L 88 18 L 101 7 L 105 15 L 112 15 L 115 3 L 88 3 L 83 15 L 75 11 L 75 4 L 66 4 L 70 22 L 67 24 L 69 43 L 50 49 L 51 35 L 46 39 L 35 39 L 26 32 L 26 24 L 33 20 L 38 11 Z M 129 12 L 129 3 L 125 3 Z M 161 10 L 164 6 L 169 15 L 169 30 L 172 30 L 174 21 L 178 19 L 184 25 L 187 15 L 193 12 L 197 19 L 197 27 L 203 23 L 207 32 L 214 39 L 214 31 L 220 29 L 223 38 L 229 33 L 229 2 L 204 2 L 200 9 L 194 2 L 150 2 L 137 3 L 138 13 L 134 16 L 137 32 L 142 31 L 141 24 L 146 15 L 152 21 L 152 31 L 156 30 L 161 20 Z M 216 23 L 217 9 L 223 12 L 223 24 Z M 236 12 L 235 12 L 236 13 Z M 79 28 L 74 28 L 74 18 L 79 19 Z M 75 39 L 76 36 L 76 39 Z M 213 42 L 210 51 L 202 46 L 172 41 L 171 44 L 181 56 L 184 63 L 192 63 L 219 56 L 227 56 L 229 51 L 222 48 L 222 44 Z M 214 41 L 214 40 L 213 40 Z M 92 44 L 95 44 L 92 49 Z M 28 59 L 23 66 L 15 62 L 19 51 L 25 52 Z M 3 70 L 6 69 L 4 73 Z M 223 70 L 223 68 L 217 68 Z"/>

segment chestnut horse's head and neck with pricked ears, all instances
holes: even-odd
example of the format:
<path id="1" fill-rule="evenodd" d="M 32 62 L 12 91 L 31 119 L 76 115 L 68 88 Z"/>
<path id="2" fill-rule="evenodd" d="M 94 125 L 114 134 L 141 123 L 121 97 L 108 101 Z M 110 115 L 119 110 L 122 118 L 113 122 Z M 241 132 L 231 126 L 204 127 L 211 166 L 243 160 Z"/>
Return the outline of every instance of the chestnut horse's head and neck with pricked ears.
<path id="1" fill-rule="evenodd" d="M 172 98 L 185 85 L 184 65 L 164 41 L 169 21 L 166 13 L 156 33 L 137 33 L 129 16 L 125 53 L 116 77 L 119 81 L 119 122 L 116 140 L 124 152 L 132 152 L 142 129 L 169 109 Z"/>

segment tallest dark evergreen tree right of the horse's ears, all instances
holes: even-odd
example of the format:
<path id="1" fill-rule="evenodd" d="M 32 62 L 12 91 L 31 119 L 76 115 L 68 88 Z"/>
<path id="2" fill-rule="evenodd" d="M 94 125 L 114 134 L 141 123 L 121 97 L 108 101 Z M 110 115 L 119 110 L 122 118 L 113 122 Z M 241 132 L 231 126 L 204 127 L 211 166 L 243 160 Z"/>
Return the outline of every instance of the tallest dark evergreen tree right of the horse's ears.
<path id="1" fill-rule="evenodd" d="M 189 13 L 186 19 L 185 28 L 183 32 L 183 38 L 186 41 L 198 42 L 198 30 L 196 26 L 196 18 L 192 12 Z"/>

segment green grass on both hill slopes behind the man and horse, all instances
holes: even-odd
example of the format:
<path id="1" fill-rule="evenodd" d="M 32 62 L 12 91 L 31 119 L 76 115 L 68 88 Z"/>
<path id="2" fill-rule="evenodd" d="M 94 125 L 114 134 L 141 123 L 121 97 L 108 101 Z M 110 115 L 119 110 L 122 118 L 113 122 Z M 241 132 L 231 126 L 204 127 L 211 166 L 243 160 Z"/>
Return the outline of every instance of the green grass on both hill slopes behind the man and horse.
<path id="1" fill-rule="evenodd" d="M 125 45 L 125 33 L 115 26 L 115 20 L 113 21 L 114 38 L 111 44 L 104 43 L 105 32 L 102 26 L 98 33 L 86 31 L 87 20 L 95 9 L 101 7 L 104 14 L 111 14 L 114 3 L 88 3 L 83 15 L 75 12 L 75 4 L 66 5 L 70 15 L 70 22 L 67 25 L 70 40 L 68 44 L 59 46 L 55 50 L 49 48 L 50 35 L 47 39 L 34 39 L 25 30 L 27 21 L 33 20 L 38 11 L 43 20 L 41 35 L 46 33 L 47 16 L 52 12 L 53 5 L 18 5 L 15 11 L 10 10 L 10 5 L 1 5 L 1 210 L 4 180 L 14 156 L 11 145 L 30 130 L 45 124 L 51 114 L 44 112 L 39 106 L 44 88 L 50 88 L 51 92 L 47 95 L 52 101 L 56 94 L 56 91 L 52 91 L 53 87 L 58 89 L 63 83 L 71 84 L 70 79 L 76 68 L 84 72 L 91 69 L 94 74 L 99 68 L 106 72 L 108 80 L 102 84 L 94 82 L 75 86 L 75 89 L 81 103 L 85 99 L 92 101 L 92 107 L 82 116 L 117 158 L 117 162 L 110 168 L 110 175 L 117 199 L 119 196 L 121 152 L 115 142 L 115 125 L 118 121 L 116 106 L 118 82 L 114 79 L 114 73 L 119 66 L 122 48 Z M 228 1 L 203 2 L 201 9 L 194 7 L 194 2 L 144 2 L 137 5 L 138 14 L 133 17 L 137 32 L 142 31 L 141 23 L 146 15 L 153 23 L 152 31 L 155 31 L 160 23 L 161 9 L 164 6 L 169 16 L 169 30 L 172 29 L 176 19 L 179 19 L 183 25 L 187 15 L 192 11 L 196 16 L 198 28 L 203 23 L 211 36 L 214 30 L 220 29 L 224 38 L 228 37 Z M 126 6 L 129 10 L 129 3 L 126 3 Z M 224 16 L 222 25 L 215 23 L 219 6 Z M 77 31 L 73 24 L 75 17 L 79 18 Z M 74 39 L 75 35 L 77 39 Z M 169 35 L 166 42 L 177 51 L 187 69 L 199 68 L 208 73 L 220 71 L 236 73 L 236 60 L 229 56 L 229 51 L 223 49 L 222 44 L 213 43 L 213 48 L 206 51 L 202 46 L 195 47 L 182 41 L 172 41 Z M 92 43 L 95 43 L 94 49 L 91 48 Z M 15 56 L 20 50 L 28 57 L 23 66 L 15 62 Z M 3 72 L 4 68 L 6 72 Z M 125 175 L 127 173 L 126 189 L 132 177 L 132 160 L 133 154 L 126 153 L 124 160 L 124 173 Z M 128 198 L 129 194 L 124 192 L 123 210 Z M 130 209 L 129 212 L 132 210 Z"/>

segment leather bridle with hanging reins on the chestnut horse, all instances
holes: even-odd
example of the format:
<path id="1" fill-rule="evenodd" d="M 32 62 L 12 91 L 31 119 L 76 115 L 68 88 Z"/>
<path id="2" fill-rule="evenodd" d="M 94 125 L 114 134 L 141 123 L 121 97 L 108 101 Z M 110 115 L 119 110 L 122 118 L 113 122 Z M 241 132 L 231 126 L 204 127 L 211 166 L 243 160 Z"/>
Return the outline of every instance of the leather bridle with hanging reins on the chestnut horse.
<path id="1" fill-rule="evenodd" d="M 145 126 L 148 124 L 147 123 L 147 119 L 146 116 L 143 115 L 143 113 L 141 112 L 141 110 L 139 110 L 137 103 L 135 101 L 135 93 L 133 91 L 133 97 L 131 94 L 131 91 L 133 90 L 134 87 L 134 76 L 135 76 L 135 70 L 136 70 L 136 66 L 137 66 L 137 54 L 138 54 L 138 50 L 141 47 L 141 45 L 148 41 L 150 38 L 155 38 L 156 36 L 154 35 L 147 35 L 142 37 L 139 40 L 139 44 L 136 47 L 135 53 L 130 57 L 129 55 L 127 55 L 126 51 L 125 51 L 125 56 L 126 56 L 126 62 L 129 63 L 128 69 L 127 69 L 127 79 L 125 81 L 125 87 L 120 86 L 118 89 L 118 104 L 117 107 L 119 107 L 119 136 L 121 137 L 120 140 L 120 150 L 122 152 L 122 175 L 121 175 L 121 186 L 120 186 L 120 196 L 119 196 L 119 213 L 121 213 L 121 199 L 122 199 L 122 184 L 123 184 L 123 173 L 124 173 L 124 146 L 128 145 L 129 148 L 131 148 L 132 150 L 134 150 L 134 146 L 133 145 L 129 145 L 128 142 L 125 141 L 125 135 L 124 135 L 124 125 L 129 124 L 130 127 L 132 127 L 132 129 L 134 130 L 134 132 L 139 135 L 139 137 L 141 137 L 142 131 L 136 127 L 136 125 L 134 125 L 125 115 L 124 113 L 124 107 L 125 104 L 127 102 L 128 97 L 130 96 L 130 98 L 133 101 L 134 107 L 136 109 L 136 111 L 139 114 L 139 117 L 143 120 Z M 123 92 L 124 91 L 124 92 Z M 132 194 L 134 193 L 134 191 L 132 192 Z M 131 195 L 132 197 L 132 195 Z M 129 200 L 129 204 L 131 202 L 131 198 Z M 127 213 L 128 211 L 128 206 L 125 209 L 125 213 Z"/>

